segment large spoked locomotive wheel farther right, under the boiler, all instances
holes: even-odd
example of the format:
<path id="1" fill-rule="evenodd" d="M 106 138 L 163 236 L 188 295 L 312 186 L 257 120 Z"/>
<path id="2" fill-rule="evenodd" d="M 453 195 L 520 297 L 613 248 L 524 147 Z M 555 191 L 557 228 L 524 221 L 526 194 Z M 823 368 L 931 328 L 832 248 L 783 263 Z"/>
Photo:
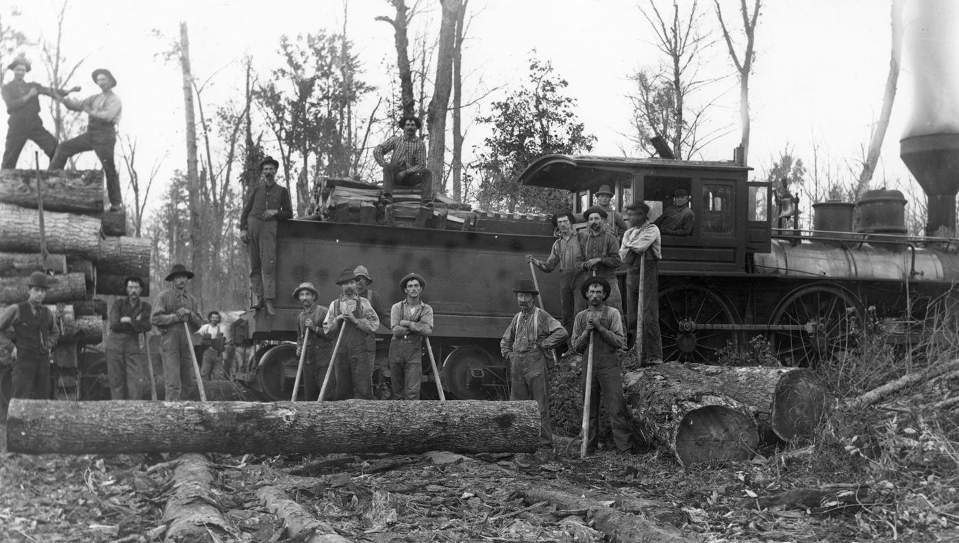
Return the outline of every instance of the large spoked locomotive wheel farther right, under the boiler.
<path id="1" fill-rule="evenodd" d="M 817 366 L 853 349 L 863 321 L 862 303 L 846 290 L 802 287 L 773 312 L 773 352 L 785 366 Z"/>

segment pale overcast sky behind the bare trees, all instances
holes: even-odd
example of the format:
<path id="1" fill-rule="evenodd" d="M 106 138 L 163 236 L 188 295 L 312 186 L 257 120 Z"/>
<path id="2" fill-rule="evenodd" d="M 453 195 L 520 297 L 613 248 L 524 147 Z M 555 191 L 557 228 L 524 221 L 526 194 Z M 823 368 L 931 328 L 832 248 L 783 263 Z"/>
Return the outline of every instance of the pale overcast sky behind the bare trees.
<path id="1" fill-rule="evenodd" d="M 281 61 L 276 54 L 281 35 L 318 29 L 339 32 L 343 1 L 72 0 L 62 43 L 69 61 L 85 58 L 71 81 L 82 85 L 82 96 L 97 92 L 89 78 L 93 69 L 106 67 L 113 72 L 119 82 L 115 90 L 124 103 L 121 130 L 139 142 L 141 171 L 162 159 L 163 177 L 169 177 L 174 169 L 185 169 L 183 95 L 178 65 L 156 54 L 168 49 L 168 42 L 178 34 L 179 22 L 189 25 L 194 74 L 201 81 L 213 76 L 203 97 L 212 108 L 242 95 L 241 59 L 246 55 L 253 57 L 255 69 L 266 78 Z M 435 2 L 421 1 L 427 10 L 418 16 L 414 31 L 435 33 Z M 889 67 L 889 3 L 768 3 L 760 15 L 758 54 L 750 83 L 750 164 L 760 176 L 771 157 L 788 145 L 811 166 L 812 146 L 817 144 L 820 160 L 844 168 L 868 146 L 872 123 L 882 105 Z M 690 5 L 685 1 L 680 4 L 684 8 Z M 621 154 L 621 147 L 630 147 L 622 135 L 630 130 L 628 76 L 661 60 L 635 2 L 470 0 L 469 5 L 474 19 L 464 55 L 464 72 L 472 73 L 467 84 L 479 89 L 481 81 L 485 87 L 501 89 L 483 105 L 517 87 L 526 77 L 527 60 L 535 50 L 537 58 L 551 60 L 557 73 L 570 83 L 567 92 L 578 101 L 579 118 L 586 130 L 596 135 L 594 153 Z M 711 1 L 700 1 L 710 24 L 712 5 Z M 736 1 L 723 0 L 722 5 L 728 21 L 738 20 Z M 0 13 L 4 24 L 9 22 L 34 38 L 54 40 L 56 14 L 61 6 L 60 1 L 51 0 L 3 0 Z M 12 7 L 22 14 L 10 18 Z M 386 64 L 395 61 L 392 29 L 374 17 L 392 15 L 392 9 L 386 0 L 352 0 L 348 11 L 347 32 L 363 61 L 363 77 L 368 83 L 388 88 L 389 79 L 395 78 L 386 73 Z M 152 35 L 153 29 L 167 39 Z M 36 61 L 38 54 L 35 50 L 28 52 L 35 60 L 28 79 L 46 83 L 43 67 Z M 899 139 L 911 109 L 912 66 L 906 61 L 902 69 L 875 186 L 888 182 L 891 188 L 895 180 L 908 177 L 899 159 Z M 723 43 L 713 47 L 703 70 L 708 75 L 730 75 L 700 95 L 703 101 L 718 97 L 714 122 L 734 129 L 713 142 L 703 157 L 728 159 L 739 140 L 738 89 Z M 8 72 L 7 81 L 10 77 Z M 375 98 L 365 107 L 372 104 Z M 467 116 L 487 111 L 482 107 Z M 480 129 L 471 130 L 467 149 L 481 144 L 482 135 Z M 271 146 L 268 142 L 268 148 Z M 32 167 L 33 149 L 28 147 L 21 155 L 21 167 Z M 277 151 L 273 147 L 269 152 Z M 87 153 L 81 166 L 94 164 L 93 153 Z M 46 159 L 41 158 L 41 167 L 45 165 Z M 122 180 L 126 186 L 125 174 Z"/>

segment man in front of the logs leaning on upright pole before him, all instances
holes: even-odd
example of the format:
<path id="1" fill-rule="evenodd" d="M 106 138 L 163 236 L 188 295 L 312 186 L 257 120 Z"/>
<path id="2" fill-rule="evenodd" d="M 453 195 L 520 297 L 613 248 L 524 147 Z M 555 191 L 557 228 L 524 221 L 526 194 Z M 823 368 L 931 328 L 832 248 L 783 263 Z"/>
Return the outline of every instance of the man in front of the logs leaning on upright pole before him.
<path id="1" fill-rule="evenodd" d="M 602 391 L 613 428 L 613 440 L 621 452 L 633 448 L 633 432 L 626 419 L 626 403 L 622 396 L 622 373 L 617 357 L 626 335 L 622 329 L 622 315 L 615 307 L 603 305 L 610 294 L 610 285 L 602 277 L 590 277 L 583 281 L 581 293 L 589 300 L 586 311 L 576 315 L 573 323 L 573 349 L 583 355 L 583 397 L 590 394 L 590 435 L 587 450 L 596 450 L 599 427 L 599 393 Z M 590 336 L 593 336 L 593 380 L 586 383 Z"/>

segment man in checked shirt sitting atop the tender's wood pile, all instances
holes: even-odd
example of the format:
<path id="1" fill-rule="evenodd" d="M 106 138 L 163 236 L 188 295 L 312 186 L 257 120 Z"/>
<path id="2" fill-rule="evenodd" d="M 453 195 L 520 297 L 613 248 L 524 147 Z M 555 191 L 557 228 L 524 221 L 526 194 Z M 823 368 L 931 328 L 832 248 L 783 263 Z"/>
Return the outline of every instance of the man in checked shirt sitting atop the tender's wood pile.
<path id="1" fill-rule="evenodd" d="M 406 116 L 397 123 L 403 134 L 395 135 L 373 150 L 373 158 L 383 167 L 383 201 L 393 202 L 393 185 L 419 186 L 423 204 L 433 202 L 433 173 L 426 167 L 426 144 L 416 137 L 422 123 L 413 116 Z M 386 161 L 384 154 L 389 155 Z"/>

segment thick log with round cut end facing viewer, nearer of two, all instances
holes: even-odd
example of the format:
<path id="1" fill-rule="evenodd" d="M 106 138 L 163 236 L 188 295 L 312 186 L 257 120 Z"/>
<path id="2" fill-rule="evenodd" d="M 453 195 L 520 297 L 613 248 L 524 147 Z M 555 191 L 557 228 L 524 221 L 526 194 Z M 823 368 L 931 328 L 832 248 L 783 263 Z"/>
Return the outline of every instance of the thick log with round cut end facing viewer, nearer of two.
<path id="1" fill-rule="evenodd" d="M 752 458 L 760 437 L 749 408 L 712 384 L 688 382 L 688 373 L 669 363 L 623 376 L 627 409 L 643 433 L 683 465 Z"/>

